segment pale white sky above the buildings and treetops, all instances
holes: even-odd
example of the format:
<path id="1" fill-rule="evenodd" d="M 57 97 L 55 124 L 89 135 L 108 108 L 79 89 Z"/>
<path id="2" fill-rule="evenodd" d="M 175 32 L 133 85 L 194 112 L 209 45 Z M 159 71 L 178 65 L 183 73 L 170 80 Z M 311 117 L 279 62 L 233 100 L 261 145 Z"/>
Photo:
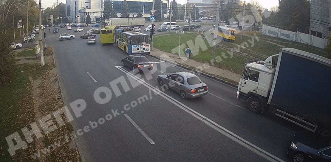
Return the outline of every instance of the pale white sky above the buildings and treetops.
<path id="1" fill-rule="evenodd" d="M 186 0 L 176 0 L 177 3 L 185 4 Z M 200 1 L 200 0 L 199 0 Z M 202 0 L 204 1 L 204 0 Z M 246 0 L 246 3 L 249 3 L 251 0 Z M 263 8 L 270 9 L 271 7 L 278 5 L 278 0 L 257 0 L 260 2 Z M 39 3 L 39 0 L 36 0 L 37 3 Z M 56 2 L 56 0 L 42 0 L 41 5 L 42 8 L 47 8 L 53 5 L 53 3 Z M 65 0 L 59 0 L 59 3 L 66 3 Z"/>

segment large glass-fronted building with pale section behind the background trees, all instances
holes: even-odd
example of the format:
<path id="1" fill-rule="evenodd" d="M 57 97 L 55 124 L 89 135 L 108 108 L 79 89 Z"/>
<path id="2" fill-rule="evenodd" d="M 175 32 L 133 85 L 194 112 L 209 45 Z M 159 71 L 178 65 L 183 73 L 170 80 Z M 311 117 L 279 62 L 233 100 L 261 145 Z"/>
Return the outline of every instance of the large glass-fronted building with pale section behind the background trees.
<path id="1" fill-rule="evenodd" d="M 113 8 L 115 9 L 118 17 L 122 12 L 122 5 L 124 0 L 113 0 Z M 153 0 L 127 0 L 129 6 L 130 16 L 137 14 L 138 12 L 143 13 L 144 17 L 150 16 L 152 10 Z M 66 18 L 69 22 L 85 22 L 87 12 L 90 13 L 91 21 L 98 22 L 101 20 L 103 8 L 103 0 L 66 0 Z M 161 9 L 161 8 L 160 8 Z M 163 0 L 162 13 L 168 15 L 169 0 Z M 155 10 L 157 10 L 155 8 Z"/>

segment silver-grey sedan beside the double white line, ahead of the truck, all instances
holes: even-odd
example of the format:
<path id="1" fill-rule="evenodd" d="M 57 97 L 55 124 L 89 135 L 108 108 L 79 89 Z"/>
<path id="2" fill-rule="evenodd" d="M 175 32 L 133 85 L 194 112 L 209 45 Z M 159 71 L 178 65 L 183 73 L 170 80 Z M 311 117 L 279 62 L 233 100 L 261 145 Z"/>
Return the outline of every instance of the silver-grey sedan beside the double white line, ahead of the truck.
<path id="1" fill-rule="evenodd" d="M 178 92 L 182 99 L 196 98 L 208 94 L 207 84 L 202 82 L 196 75 L 188 72 L 161 74 L 158 76 L 158 82 L 160 86 L 168 86 L 168 88 Z"/>

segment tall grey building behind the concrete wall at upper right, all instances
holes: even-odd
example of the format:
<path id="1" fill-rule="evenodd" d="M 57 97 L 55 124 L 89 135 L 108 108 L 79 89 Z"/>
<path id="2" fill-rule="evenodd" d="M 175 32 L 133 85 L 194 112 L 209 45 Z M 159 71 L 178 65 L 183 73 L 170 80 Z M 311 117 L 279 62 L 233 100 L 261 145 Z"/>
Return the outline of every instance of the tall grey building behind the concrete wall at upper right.
<path id="1" fill-rule="evenodd" d="M 310 1 L 309 34 L 328 38 L 331 34 L 331 0 Z"/>

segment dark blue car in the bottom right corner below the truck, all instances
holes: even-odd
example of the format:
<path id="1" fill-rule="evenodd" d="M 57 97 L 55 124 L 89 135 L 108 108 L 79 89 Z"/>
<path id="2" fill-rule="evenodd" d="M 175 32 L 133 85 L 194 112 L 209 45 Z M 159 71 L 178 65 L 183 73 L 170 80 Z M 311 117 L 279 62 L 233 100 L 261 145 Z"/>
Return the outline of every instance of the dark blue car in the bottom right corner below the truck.
<path id="1" fill-rule="evenodd" d="M 317 136 L 311 132 L 296 133 L 290 142 L 287 154 L 294 162 L 331 161 L 330 136 Z"/>

